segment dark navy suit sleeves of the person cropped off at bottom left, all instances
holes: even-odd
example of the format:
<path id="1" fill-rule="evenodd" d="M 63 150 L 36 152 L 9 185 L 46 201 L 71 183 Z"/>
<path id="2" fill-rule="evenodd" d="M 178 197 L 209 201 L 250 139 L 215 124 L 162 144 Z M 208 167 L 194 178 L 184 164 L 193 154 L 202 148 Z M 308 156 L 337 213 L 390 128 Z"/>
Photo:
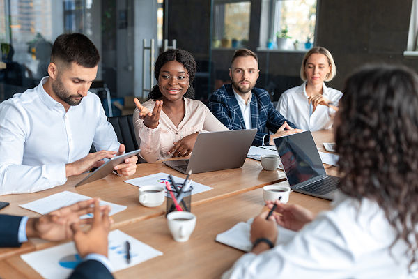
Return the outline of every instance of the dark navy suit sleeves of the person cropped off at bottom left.
<path id="1" fill-rule="evenodd" d="M 17 239 L 21 216 L 0 214 L 0 247 L 20 246 Z M 70 278 L 114 278 L 101 262 L 93 259 L 79 264 Z"/>

